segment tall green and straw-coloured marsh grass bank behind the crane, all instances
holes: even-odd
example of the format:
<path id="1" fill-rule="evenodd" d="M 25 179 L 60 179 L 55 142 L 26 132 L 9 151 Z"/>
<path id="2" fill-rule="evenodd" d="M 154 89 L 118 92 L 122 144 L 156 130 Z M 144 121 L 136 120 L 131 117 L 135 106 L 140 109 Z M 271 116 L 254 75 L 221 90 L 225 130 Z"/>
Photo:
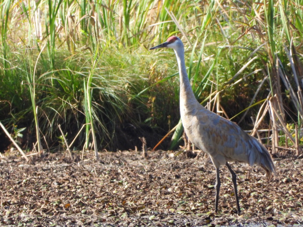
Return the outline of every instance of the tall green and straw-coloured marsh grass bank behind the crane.
<path id="1" fill-rule="evenodd" d="M 69 141 L 85 124 L 75 147 L 93 143 L 96 158 L 97 149 L 123 149 L 120 140 L 139 146 L 138 136 L 152 146 L 179 122 L 178 76 L 172 51 L 148 48 L 178 35 L 201 104 L 245 129 L 270 128 L 276 146 L 290 136 L 295 143 L 303 117 L 302 3 L 5 0 L 0 120 L 26 127 L 27 149 L 40 135 L 38 147 L 58 149 L 58 124 Z M 287 123 L 299 129 L 294 137 Z"/>

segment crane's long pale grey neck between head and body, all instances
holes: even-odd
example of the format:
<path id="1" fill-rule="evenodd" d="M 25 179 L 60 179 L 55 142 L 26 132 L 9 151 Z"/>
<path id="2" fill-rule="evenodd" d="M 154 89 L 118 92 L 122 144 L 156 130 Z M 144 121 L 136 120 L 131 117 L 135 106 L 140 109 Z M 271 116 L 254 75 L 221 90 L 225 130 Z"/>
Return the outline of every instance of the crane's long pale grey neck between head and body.
<path id="1" fill-rule="evenodd" d="M 175 54 L 179 66 L 180 74 L 180 111 L 191 112 L 196 108 L 196 105 L 200 105 L 192 91 L 188 75 L 185 67 L 184 60 L 184 48 L 178 48 L 175 50 Z M 182 114 L 181 114 L 182 115 Z"/>

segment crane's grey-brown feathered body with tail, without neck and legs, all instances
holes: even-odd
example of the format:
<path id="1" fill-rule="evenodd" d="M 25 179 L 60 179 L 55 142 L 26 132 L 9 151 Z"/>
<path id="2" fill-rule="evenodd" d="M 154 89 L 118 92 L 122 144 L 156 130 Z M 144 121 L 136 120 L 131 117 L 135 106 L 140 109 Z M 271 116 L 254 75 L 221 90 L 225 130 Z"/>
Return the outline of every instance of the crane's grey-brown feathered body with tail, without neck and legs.
<path id="1" fill-rule="evenodd" d="M 239 161 L 275 172 L 268 150 L 237 124 L 203 107 L 184 118 L 189 140 L 208 153 L 213 162 L 223 165 L 226 161 Z"/>

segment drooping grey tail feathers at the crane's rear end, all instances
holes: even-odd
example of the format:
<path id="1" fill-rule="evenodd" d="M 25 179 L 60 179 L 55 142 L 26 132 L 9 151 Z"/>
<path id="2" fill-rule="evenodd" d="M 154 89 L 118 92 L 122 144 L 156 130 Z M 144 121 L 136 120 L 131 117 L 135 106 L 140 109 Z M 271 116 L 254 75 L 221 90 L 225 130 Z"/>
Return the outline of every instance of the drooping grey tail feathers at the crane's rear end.
<path id="1" fill-rule="evenodd" d="M 254 137 L 253 137 L 254 138 Z M 271 154 L 269 151 L 263 146 L 261 143 L 258 142 L 257 139 L 254 138 L 253 143 L 255 145 L 255 148 L 258 152 L 257 155 L 255 154 L 255 163 L 258 166 L 260 166 L 262 169 L 265 170 L 268 179 L 271 179 L 271 173 L 276 175 L 276 168 L 274 161 L 272 160 Z M 252 160 L 250 160 L 251 162 Z"/>

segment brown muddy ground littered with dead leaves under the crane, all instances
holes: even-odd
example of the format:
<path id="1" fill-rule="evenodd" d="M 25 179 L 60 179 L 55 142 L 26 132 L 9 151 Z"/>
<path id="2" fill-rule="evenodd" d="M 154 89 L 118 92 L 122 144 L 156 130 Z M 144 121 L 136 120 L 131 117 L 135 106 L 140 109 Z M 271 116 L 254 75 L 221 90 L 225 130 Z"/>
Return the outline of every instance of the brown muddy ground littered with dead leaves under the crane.
<path id="1" fill-rule="evenodd" d="M 241 215 L 227 168 L 221 167 L 218 214 L 215 168 L 209 158 L 166 151 L 92 153 L 69 162 L 49 154 L 35 164 L 2 154 L 2 226 L 302 225 L 303 164 L 282 152 L 269 182 L 258 167 L 231 163 L 238 178 Z"/>

